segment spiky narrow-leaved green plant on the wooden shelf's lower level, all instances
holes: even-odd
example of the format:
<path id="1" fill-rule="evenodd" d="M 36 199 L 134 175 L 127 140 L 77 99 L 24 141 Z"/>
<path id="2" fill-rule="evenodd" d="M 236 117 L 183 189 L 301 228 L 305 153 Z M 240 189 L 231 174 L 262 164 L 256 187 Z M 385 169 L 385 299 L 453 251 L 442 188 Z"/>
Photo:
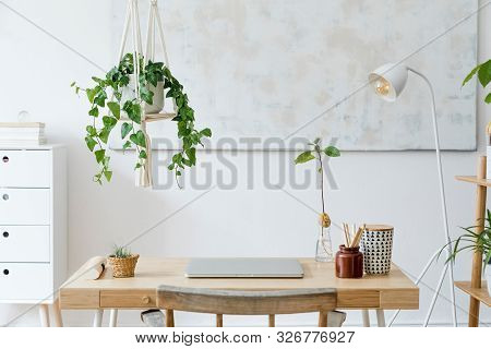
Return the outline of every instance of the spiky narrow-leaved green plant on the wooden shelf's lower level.
<path id="1" fill-rule="evenodd" d="M 487 213 L 487 217 L 484 218 L 484 230 L 482 230 L 481 233 L 477 233 L 476 228 L 477 227 L 462 228 L 466 232 L 451 243 L 445 244 L 445 246 L 443 246 L 443 249 L 440 251 L 439 256 L 443 251 L 445 251 L 453 244 L 452 252 L 446 260 L 446 263 L 454 263 L 457 254 L 459 254 L 462 251 L 470 250 L 482 253 L 483 264 L 486 267 L 486 265 L 488 265 L 491 261 L 491 212 L 489 209 Z"/>

